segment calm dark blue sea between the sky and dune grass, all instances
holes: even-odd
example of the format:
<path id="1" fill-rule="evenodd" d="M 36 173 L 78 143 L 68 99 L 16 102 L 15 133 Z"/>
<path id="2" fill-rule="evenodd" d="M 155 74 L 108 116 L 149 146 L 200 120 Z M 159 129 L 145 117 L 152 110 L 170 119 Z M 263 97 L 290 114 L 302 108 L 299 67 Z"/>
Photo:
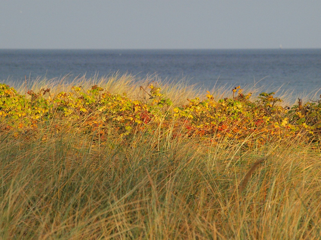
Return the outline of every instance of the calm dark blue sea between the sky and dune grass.
<path id="1" fill-rule="evenodd" d="M 321 49 L 0 49 L 0 82 L 132 74 L 214 87 L 257 86 L 320 94 Z"/>

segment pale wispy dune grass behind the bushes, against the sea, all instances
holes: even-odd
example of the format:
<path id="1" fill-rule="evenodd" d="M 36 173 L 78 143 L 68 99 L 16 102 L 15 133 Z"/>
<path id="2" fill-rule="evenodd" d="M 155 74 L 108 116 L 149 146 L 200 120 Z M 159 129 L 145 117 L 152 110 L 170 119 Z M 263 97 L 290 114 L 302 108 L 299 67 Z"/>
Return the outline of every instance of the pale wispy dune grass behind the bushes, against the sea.
<path id="1" fill-rule="evenodd" d="M 70 87 L 73 85 L 81 85 L 84 89 L 90 89 L 93 85 L 98 85 L 104 89 L 108 89 L 111 93 L 123 93 L 126 92 L 128 96 L 140 97 L 140 86 L 147 86 L 151 82 L 156 82 L 161 85 L 162 91 L 166 93 L 166 96 L 172 100 L 176 105 L 182 105 L 187 103 L 187 98 L 193 98 L 195 96 L 204 98 L 206 91 L 209 91 L 213 94 L 215 99 L 222 99 L 225 97 L 231 97 L 230 89 L 235 86 L 230 85 L 220 85 L 212 89 L 208 89 L 207 86 L 202 86 L 199 84 L 191 84 L 188 79 L 160 79 L 157 75 L 146 76 L 145 78 L 137 78 L 131 74 L 121 75 L 118 72 L 108 75 L 108 76 L 92 76 L 87 78 L 83 76 L 71 76 L 65 75 L 60 78 L 41 78 L 37 77 L 36 79 L 28 79 L 25 81 L 6 81 L 5 83 L 14 87 L 21 94 L 25 94 L 29 89 L 40 90 L 42 88 L 50 88 L 53 93 L 58 92 L 68 92 Z M 258 86 L 257 84 L 260 81 L 257 81 L 256 84 L 242 85 L 243 92 L 251 92 L 253 96 L 257 96 L 261 92 L 275 92 L 279 98 L 283 100 L 284 105 L 291 106 L 297 102 L 297 99 L 302 99 L 303 102 L 308 101 L 309 99 L 317 98 L 317 92 L 320 89 L 317 89 L 315 92 L 300 92 L 299 95 L 294 95 L 294 90 L 283 89 L 281 87 L 271 86 Z M 27 97 L 28 95 L 25 94 Z"/>

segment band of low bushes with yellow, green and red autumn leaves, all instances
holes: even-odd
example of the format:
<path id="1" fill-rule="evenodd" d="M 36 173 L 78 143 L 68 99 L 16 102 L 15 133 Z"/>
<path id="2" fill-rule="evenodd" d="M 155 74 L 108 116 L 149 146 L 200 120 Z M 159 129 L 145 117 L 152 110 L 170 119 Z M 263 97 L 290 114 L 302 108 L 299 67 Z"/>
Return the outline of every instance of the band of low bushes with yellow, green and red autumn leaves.
<path id="1" fill-rule="evenodd" d="M 89 89 L 72 86 L 68 92 L 52 93 L 49 88 L 28 96 L 6 84 L 0 84 L 0 119 L 2 128 L 15 131 L 15 136 L 30 136 L 47 126 L 49 132 L 72 129 L 75 134 L 91 134 L 104 144 L 111 131 L 119 140 L 137 133 L 169 132 L 170 137 L 203 137 L 245 141 L 253 139 L 264 145 L 276 139 L 304 134 L 305 140 L 318 141 L 321 129 L 320 100 L 294 106 L 280 105 L 274 92 L 262 92 L 250 100 L 240 86 L 231 91 L 232 97 L 214 99 L 207 91 L 206 98 L 188 99 L 177 106 L 162 93 L 155 82 L 140 86 L 137 96 L 110 93 L 98 85 Z M 55 123 L 55 124 L 52 124 Z M 46 137 L 46 136 L 44 136 Z"/>

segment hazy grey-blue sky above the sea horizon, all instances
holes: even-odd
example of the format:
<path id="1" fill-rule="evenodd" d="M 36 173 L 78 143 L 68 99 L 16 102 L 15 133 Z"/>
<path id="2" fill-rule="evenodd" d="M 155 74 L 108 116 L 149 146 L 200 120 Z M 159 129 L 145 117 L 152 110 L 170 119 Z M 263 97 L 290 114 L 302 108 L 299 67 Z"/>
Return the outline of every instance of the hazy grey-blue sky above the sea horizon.
<path id="1" fill-rule="evenodd" d="M 321 48 L 320 11 L 320 0 L 0 0 L 0 48 Z"/>

